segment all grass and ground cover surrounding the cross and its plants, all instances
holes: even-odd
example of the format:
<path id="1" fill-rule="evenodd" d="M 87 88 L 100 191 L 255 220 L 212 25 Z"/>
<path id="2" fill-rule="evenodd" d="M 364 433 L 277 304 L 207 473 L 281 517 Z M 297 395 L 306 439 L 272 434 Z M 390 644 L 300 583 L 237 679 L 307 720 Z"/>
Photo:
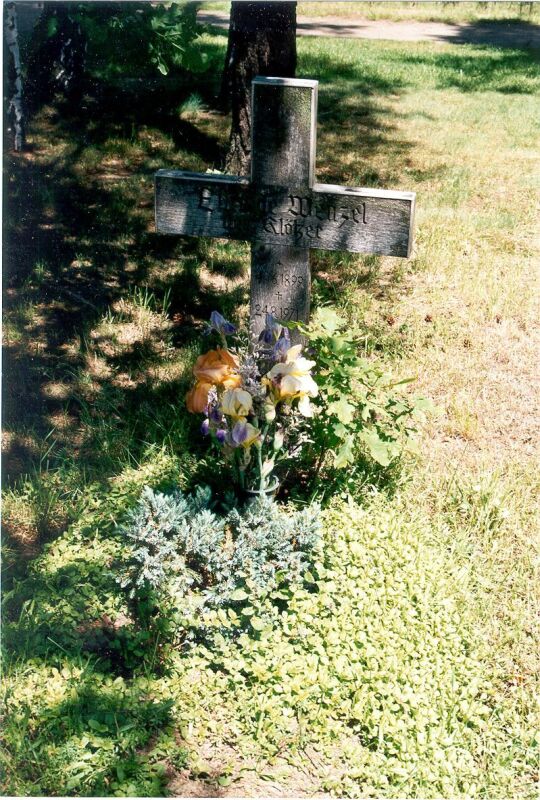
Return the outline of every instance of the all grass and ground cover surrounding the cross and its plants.
<path id="1" fill-rule="evenodd" d="M 204 39 L 216 65 L 224 45 Z M 215 166 L 228 121 L 206 78 L 173 115 L 159 81 L 135 107 L 106 75 L 100 105 L 43 108 L 9 159 L 7 793 L 535 795 L 534 56 L 299 49 L 318 179 L 419 209 L 410 261 L 315 254 L 314 304 L 439 413 L 399 468 L 320 492 L 324 568 L 282 626 L 141 641 L 116 524 L 144 485 L 213 479 L 183 396 L 210 311 L 245 317 L 248 265 L 243 244 L 157 237 L 152 173 Z"/>

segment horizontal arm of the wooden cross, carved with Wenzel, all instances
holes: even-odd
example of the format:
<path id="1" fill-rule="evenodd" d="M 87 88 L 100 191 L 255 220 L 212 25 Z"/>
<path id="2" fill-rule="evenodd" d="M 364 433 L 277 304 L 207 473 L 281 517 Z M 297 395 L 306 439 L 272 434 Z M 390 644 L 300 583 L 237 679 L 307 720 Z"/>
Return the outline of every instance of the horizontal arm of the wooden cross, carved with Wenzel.
<path id="1" fill-rule="evenodd" d="M 156 174 L 157 230 L 184 236 L 407 257 L 414 203 L 413 192 L 255 187 L 235 176 Z"/>

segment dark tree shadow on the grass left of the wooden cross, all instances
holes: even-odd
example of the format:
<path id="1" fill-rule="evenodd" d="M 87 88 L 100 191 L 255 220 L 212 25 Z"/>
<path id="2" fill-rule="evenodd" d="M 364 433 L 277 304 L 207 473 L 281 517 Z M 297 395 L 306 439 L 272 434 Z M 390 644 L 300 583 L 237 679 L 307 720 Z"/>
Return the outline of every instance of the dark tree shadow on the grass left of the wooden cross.
<path id="1" fill-rule="evenodd" d="M 12 435 L 4 450 L 4 480 L 31 470 L 38 442 L 66 409 L 76 423 L 78 403 L 69 388 L 76 392 L 87 338 L 107 309 L 134 287 L 169 291 L 170 313 L 180 317 L 172 340 L 180 346 L 198 336 L 198 315 L 243 300 L 240 288 L 229 297 L 227 287 L 201 286 L 204 244 L 152 230 L 153 173 L 176 152 L 172 141 L 186 157 L 204 157 L 206 164 L 220 157 L 219 141 L 163 110 L 176 107 L 170 88 L 160 98 L 148 87 L 139 102 L 132 91 L 98 88 L 81 107 L 71 109 L 58 98 L 43 108 L 33 121 L 33 150 L 8 158 L 4 421 Z M 137 137 L 145 122 L 154 125 L 157 143 L 150 129 Z M 242 268 L 239 260 L 223 264 L 229 274 Z M 220 271 L 215 259 L 213 270 Z M 135 345 L 116 363 L 109 359 L 109 366 L 129 371 L 148 355 Z M 56 389 L 63 385 L 54 397 L 53 382 Z M 55 431 L 66 447 L 71 436 Z M 73 448 L 74 458 L 76 453 Z"/>

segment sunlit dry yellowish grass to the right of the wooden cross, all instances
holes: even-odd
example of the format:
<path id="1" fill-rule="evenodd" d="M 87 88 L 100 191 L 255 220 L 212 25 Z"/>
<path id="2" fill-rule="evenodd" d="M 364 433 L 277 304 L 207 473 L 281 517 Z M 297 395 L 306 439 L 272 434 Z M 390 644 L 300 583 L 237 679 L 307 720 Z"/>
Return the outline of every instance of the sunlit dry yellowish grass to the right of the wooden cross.
<path id="1" fill-rule="evenodd" d="M 349 43 L 338 59 L 348 65 L 364 47 Z M 429 447 L 440 468 L 450 453 L 461 458 L 465 443 L 471 463 L 533 458 L 540 310 L 533 84 L 512 94 L 494 91 L 504 89 L 504 73 L 486 72 L 486 88 L 471 91 L 469 65 L 459 89 L 445 69 L 435 71 L 432 45 L 418 46 L 414 58 L 399 45 L 383 50 L 390 60 L 378 76 L 389 85 L 392 68 L 397 86 L 417 79 L 428 85 L 359 100 L 355 124 L 338 116 L 329 128 L 323 117 L 318 163 L 325 166 L 318 172 L 337 182 L 416 191 L 413 260 L 340 257 L 338 265 L 337 257 L 317 255 L 324 265 L 317 274 L 333 273 L 330 296 L 371 331 L 373 345 L 379 340 L 383 357 L 398 356 L 398 374 L 418 375 L 413 391 L 442 409 Z M 322 58 L 324 45 L 319 52 Z M 472 64 L 474 48 L 445 48 L 440 63 L 456 66 L 462 52 L 463 65 Z M 403 63 L 398 53 L 406 54 Z M 405 76 L 407 61 L 412 71 Z M 337 91 L 321 87 L 323 108 Z"/>

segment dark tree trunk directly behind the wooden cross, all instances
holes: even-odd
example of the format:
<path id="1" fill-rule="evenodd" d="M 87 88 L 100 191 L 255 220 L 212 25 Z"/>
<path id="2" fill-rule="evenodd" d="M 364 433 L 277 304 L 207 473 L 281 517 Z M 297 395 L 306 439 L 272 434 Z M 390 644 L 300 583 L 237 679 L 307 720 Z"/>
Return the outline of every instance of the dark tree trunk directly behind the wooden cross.
<path id="1" fill-rule="evenodd" d="M 294 78 L 295 72 L 296 2 L 233 2 L 220 93 L 222 107 L 230 103 L 232 110 L 226 172 L 250 170 L 253 78 Z"/>

